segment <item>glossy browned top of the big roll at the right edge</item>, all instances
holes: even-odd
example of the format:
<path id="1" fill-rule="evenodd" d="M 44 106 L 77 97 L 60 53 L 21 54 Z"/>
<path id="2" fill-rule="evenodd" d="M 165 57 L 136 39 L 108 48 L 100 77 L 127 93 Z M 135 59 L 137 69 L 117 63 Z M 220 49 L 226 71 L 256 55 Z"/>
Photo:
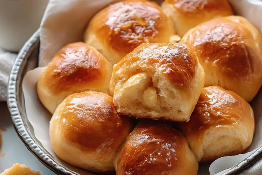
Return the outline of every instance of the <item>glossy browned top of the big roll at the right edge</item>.
<path id="1" fill-rule="evenodd" d="M 181 43 L 196 52 L 202 65 L 218 67 L 229 78 L 246 79 L 262 66 L 250 31 L 244 25 L 226 18 L 197 26 L 185 34 Z"/>

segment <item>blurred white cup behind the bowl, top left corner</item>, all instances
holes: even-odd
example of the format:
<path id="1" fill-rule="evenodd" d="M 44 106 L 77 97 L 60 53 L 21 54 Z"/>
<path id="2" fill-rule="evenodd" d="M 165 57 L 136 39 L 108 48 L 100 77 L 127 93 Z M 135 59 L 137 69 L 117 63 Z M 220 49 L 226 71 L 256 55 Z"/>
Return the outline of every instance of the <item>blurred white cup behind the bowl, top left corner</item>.
<path id="1" fill-rule="evenodd" d="M 18 52 L 39 28 L 48 0 L 0 0 L 0 48 Z"/>

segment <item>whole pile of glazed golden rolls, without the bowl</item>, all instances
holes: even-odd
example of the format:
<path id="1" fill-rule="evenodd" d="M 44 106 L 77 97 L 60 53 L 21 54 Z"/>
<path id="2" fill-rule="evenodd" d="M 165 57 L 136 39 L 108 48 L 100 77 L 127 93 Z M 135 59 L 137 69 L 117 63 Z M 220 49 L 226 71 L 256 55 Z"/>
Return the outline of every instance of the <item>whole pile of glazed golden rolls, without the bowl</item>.
<path id="1" fill-rule="evenodd" d="M 196 175 L 243 153 L 262 83 L 262 35 L 226 0 L 111 4 L 43 71 L 56 155 L 117 175 Z"/>

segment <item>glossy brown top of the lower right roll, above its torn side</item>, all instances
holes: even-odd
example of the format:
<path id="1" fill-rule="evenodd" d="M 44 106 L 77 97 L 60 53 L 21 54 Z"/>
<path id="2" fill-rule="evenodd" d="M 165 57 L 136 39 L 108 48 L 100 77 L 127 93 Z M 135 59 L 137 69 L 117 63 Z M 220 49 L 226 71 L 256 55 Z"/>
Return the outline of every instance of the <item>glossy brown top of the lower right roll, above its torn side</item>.
<path id="1" fill-rule="evenodd" d="M 204 136 L 208 129 L 241 125 L 242 122 L 252 126 L 252 121 L 251 108 L 244 99 L 219 86 L 209 86 L 203 88 L 190 121 L 181 123 L 181 129 L 191 137 Z"/>

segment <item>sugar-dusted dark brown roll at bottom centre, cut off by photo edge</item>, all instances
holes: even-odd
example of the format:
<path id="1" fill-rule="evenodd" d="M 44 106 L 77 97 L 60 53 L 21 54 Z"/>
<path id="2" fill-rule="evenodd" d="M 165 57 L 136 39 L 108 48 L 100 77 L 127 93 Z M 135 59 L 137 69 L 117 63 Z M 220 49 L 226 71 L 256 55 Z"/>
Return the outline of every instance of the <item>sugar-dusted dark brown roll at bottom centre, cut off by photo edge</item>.
<path id="1" fill-rule="evenodd" d="M 116 175 L 196 175 L 198 162 L 185 138 L 162 122 L 140 122 L 114 160 Z"/>

